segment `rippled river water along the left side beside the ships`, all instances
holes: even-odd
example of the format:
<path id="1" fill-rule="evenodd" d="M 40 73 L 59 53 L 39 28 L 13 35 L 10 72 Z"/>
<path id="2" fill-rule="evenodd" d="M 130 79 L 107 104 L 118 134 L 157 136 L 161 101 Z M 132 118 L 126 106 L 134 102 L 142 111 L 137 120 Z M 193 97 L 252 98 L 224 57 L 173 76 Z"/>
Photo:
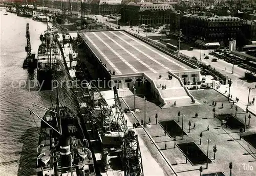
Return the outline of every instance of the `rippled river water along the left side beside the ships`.
<path id="1" fill-rule="evenodd" d="M 0 175 L 36 175 L 36 148 L 40 120 L 30 115 L 31 108 L 42 116 L 49 106 L 50 92 L 29 91 L 28 81 L 36 80 L 36 70 L 22 68 L 27 53 L 26 23 L 29 22 L 32 53 L 37 53 L 39 35 L 47 24 L 0 11 Z M 37 56 L 36 56 L 37 57 Z"/>

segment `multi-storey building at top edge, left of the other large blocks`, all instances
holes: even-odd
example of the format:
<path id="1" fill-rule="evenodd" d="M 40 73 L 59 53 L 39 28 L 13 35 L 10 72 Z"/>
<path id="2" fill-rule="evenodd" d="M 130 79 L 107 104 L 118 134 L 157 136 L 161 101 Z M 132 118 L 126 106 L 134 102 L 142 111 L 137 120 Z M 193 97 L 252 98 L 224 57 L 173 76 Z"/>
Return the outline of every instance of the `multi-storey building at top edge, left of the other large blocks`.
<path id="1" fill-rule="evenodd" d="M 82 10 L 95 15 L 119 13 L 122 0 L 92 0 L 82 3 Z"/>

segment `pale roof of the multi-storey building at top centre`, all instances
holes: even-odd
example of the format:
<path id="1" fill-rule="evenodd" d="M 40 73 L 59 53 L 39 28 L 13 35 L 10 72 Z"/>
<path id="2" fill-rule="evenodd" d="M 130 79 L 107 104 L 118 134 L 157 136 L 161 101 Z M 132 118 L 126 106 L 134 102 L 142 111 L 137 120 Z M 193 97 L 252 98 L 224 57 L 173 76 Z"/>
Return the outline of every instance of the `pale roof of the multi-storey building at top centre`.
<path id="1" fill-rule="evenodd" d="M 172 5 L 169 4 L 153 4 L 153 3 L 129 3 L 129 6 L 139 6 L 140 12 L 143 11 L 165 11 L 165 10 L 172 10 L 174 11 L 174 8 L 172 7 Z"/>

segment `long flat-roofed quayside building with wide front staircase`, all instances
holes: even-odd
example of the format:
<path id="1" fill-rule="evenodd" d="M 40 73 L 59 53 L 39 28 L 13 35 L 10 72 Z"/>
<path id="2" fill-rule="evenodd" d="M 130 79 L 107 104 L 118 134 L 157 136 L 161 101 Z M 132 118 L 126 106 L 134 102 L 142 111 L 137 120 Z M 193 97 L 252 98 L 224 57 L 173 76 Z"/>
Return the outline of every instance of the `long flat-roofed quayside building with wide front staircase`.
<path id="1" fill-rule="evenodd" d="M 136 94 L 151 93 L 164 107 L 175 101 L 196 105 L 187 87 L 201 81 L 200 68 L 127 31 L 81 32 L 77 41 L 80 61 L 94 66 L 88 69 L 101 88 L 116 86 L 120 97 L 132 95 L 136 88 Z"/>

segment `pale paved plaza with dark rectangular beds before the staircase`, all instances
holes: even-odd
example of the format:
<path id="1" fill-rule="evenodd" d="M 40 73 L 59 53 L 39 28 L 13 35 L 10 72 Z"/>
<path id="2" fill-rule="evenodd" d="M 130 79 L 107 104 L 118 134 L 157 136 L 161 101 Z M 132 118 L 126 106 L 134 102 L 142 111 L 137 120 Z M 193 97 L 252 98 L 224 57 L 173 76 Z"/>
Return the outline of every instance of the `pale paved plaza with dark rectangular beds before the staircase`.
<path id="1" fill-rule="evenodd" d="M 154 100 L 148 99 L 146 102 L 146 122 L 151 118 L 151 125 L 147 125 L 148 128 L 144 128 L 146 133 L 154 141 L 149 145 L 156 145 L 159 152 L 167 159 L 168 164 L 174 169 L 178 175 L 199 175 L 199 167 L 203 166 L 202 174 L 210 175 L 210 173 L 223 172 L 225 175 L 229 175 L 229 162 L 233 163 L 232 175 L 255 175 L 256 171 L 249 171 L 243 169 L 243 164 L 249 164 L 256 168 L 254 154 L 256 149 L 246 142 L 243 138 L 240 140 L 240 132 L 238 129 L 232 130 L 229 127 L 221 126 L 221 121 L 218 118 L 214 118 L 212 109 L 215 108 L 215 114 L 231 114 L 235 116 L 236 110 L 232 103 L 228 102 L 227 97 L 212 89 L 205 90 L 191 90 L 190 93 L 201 103 L 201 105 L 193 107 L 177 107 L 172 109 L 161 109 L 156 106 Z M 123 98 L 122 108 L 133 108 L 133 98 Z M 216 106 L 212 106 L 212 101 L 217 102 Z M 223 104 L 223 108 L 221 107 Z M 235 105 L 236 106 L 236 105 Z M 129 118 L 131 123 L 141 122 L 144 120 L 144 100 L 141 97 L 136 97 L 137 112 L 125 114 L 126 118 Z M 186 136 L 181 140 L 181 136 L 176 137 L 176 147 L 174 148 L 174 138 L 169 135 L 164 135 L 164 130 L 160 125 L 160 121 L 175 120 L 180 127 L 182 126 L 182 120 L 178 122 L 178 111 L 184 115 L 184 132 Z M 157 123 L 155 114 L 158 114 Z M 198 113 L 198 118 L 195 114 Z M 243 109 L 238 107 L 236 118 L 244 123 L 245 113 Z M 247 115 L 248 116 L 248 115 Z M 256 131 L 255 116 L 251 114 L 250 126 L 247 126 L 246 132 L 242 133 L 242 136 L 254 134 Z M 188 122 L 190 121 L 190 132 L 188 130 Z M 193 129 L 195 123 L 195 129 Z M 248 118 L 247 122 L 248 124 Z M 207 127 L 209 125 L 209 131 Z M 202 132 L 202 141 L 200 145 L 200 136 Z M 184 153 L 177 147 L 181 143 L 195 142 L 195 144 L 202 150 L 204 154 L 207 154 L 207 140 L 209 142 L 209 159 L 213 163 L 209 163 L 208 169 L 206 164 L 192 165 L 190 162 L 186 163 L 186 157 Z M 166 144 L 166 149 L 165 149 Z M 217 146 L 216 159 L 214 160 L 213 146 Z M 172 173 L 168 175 L 173 175 Z"/>

